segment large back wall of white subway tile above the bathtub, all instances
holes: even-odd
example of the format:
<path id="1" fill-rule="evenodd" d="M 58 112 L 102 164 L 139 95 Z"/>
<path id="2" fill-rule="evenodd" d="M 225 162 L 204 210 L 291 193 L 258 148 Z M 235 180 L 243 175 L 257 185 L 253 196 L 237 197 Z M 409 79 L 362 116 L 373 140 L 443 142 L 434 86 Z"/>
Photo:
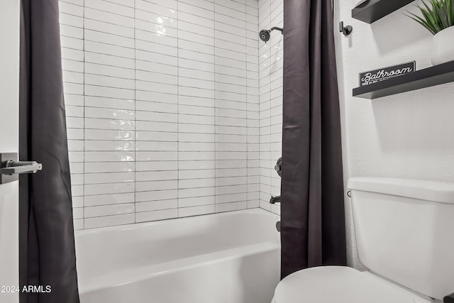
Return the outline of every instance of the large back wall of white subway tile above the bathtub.
<path id="1" fill-rule="evenodd" d="M 74 228 L 260 205 L 256 0 L 61 0 Z"/>

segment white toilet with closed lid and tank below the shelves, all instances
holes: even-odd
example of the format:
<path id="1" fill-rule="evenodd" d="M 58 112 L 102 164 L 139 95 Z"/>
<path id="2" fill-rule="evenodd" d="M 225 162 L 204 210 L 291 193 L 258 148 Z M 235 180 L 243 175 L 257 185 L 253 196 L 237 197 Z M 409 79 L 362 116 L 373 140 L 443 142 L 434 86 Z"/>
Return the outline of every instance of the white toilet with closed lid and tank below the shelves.
<path id="1" fill-rule="evenodd" d="M 348 180 L 358 258 L 367 271 L 294 272 L 272 303 L 428 303 L 454 292 L 454 183 Z"/>

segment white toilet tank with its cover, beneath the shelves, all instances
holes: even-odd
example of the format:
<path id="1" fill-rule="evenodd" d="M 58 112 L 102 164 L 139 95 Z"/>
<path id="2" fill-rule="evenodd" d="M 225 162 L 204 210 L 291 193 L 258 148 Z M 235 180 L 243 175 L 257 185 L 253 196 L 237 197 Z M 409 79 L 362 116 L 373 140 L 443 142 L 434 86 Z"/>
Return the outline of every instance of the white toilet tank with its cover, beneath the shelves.
<path id="1" fill-rule="evenodd" d="M 454 292 L 454 183 L 352 177 L 348 188 L 362 264 L 428 297 Z"/>

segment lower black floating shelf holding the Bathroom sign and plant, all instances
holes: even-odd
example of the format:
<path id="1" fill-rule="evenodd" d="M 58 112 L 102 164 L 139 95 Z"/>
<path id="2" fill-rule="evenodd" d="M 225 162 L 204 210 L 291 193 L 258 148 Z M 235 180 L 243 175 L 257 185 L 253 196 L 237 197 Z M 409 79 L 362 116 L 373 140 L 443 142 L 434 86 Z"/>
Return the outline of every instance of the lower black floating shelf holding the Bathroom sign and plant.
<path id="1" fill-rule="evenodd" d="M 454 82 L 454 61 L 353 89 L 353 97 L 376 99 Z"/>

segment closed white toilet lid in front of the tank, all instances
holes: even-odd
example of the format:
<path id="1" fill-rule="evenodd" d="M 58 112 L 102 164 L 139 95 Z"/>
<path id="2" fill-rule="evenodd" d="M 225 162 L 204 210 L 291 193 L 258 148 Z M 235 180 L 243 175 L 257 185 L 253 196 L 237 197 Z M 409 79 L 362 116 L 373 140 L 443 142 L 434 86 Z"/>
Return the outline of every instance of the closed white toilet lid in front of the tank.
<path id="1" fill-rule="evenodd" d="M 275 303 L 430 303 L 370 272 L 343 266 L 309 268 L 284 278 Z"/>

